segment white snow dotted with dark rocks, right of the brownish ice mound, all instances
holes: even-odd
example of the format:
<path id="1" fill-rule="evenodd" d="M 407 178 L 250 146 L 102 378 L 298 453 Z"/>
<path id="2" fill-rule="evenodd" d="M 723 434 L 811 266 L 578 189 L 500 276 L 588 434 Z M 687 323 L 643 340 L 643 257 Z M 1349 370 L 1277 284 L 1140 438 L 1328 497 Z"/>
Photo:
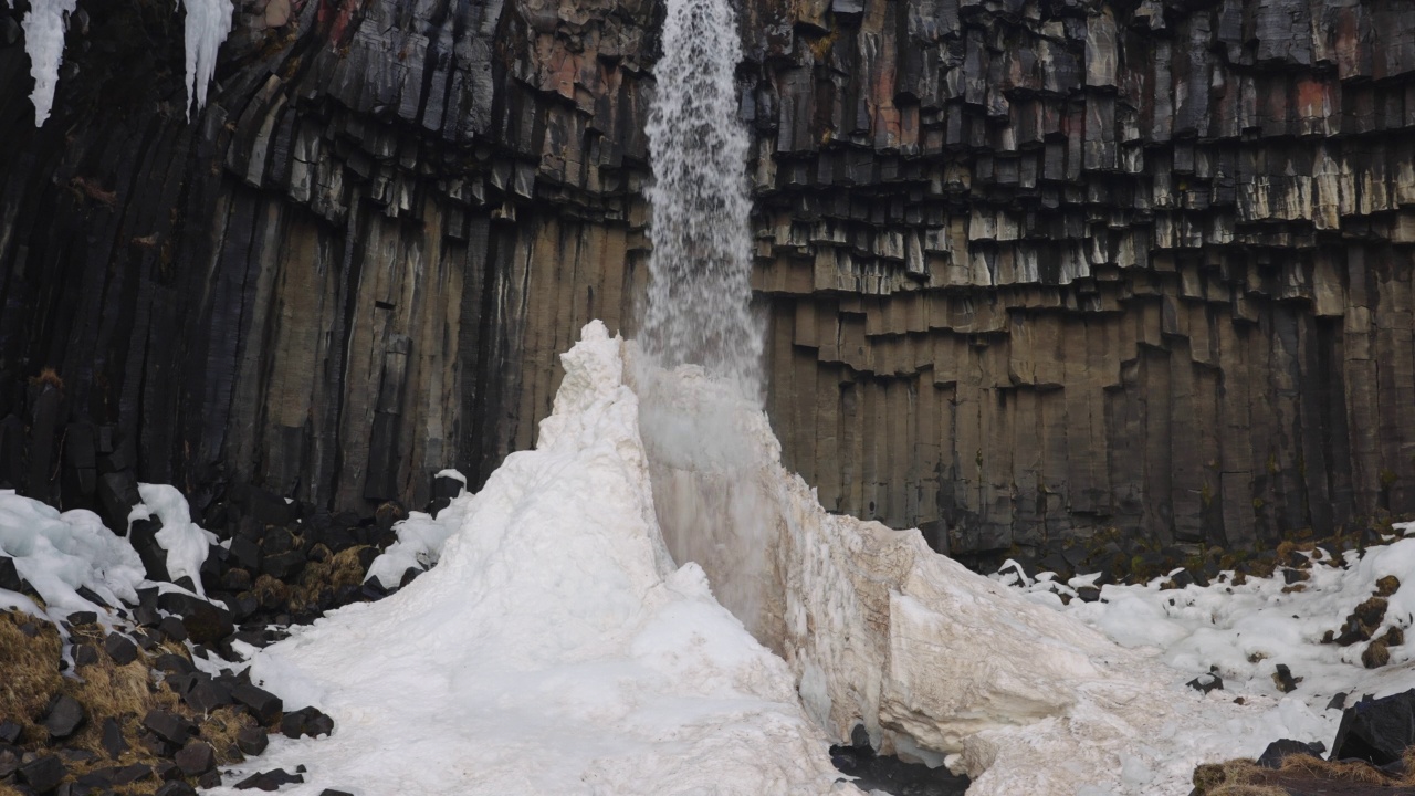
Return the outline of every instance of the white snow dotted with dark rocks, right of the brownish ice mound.
<path id="1" fill-rule="evenodd" d="M 1409 644 L 1390 647 L 1387 666 L 1365 669 L 1365 643 L 1323 643 L 1327 633 L 1341 633 L 1346 618 L 1375 593 L 1377 581 L 1387 575 L 1398 578 L 1401 586 L 1387 598 L 1375 636 L 1388 627 L 1408 630 L 1415 622 L 1415 538 L 1401 538 L 1415 531 L 1415 523 L 1397 524 L 1395 530 L 1397 535 L 1384 540 L 1388 544 L 1364 552 L 1300 552 L 1313 562 L 1299 588 L 1281 572 L 1240 585 L 1225 575 L 1208 586 L 1182 589 L 1163 589 L 1166 578 L 1156 578 L 1143 585 L 1108 584 L 1101 586 L 1099 601 L 1073 599 L 1063 606 L 1058 595 L 1075 595 L 1077 586 L 1090 584 L 1094 575 L 1068 584 L 1054 582 L 1050 574 L 1033 579 L 1007 571 L 999 578 L 1029 599 L 1166 663 L 1176 678 L 1190 680 L 1213 669 L 1223 680 L 1215 697 L 1272 705 L 1262 744 L 1282 735 L 1330 745 L 1341 720 L 1340 708 L 1327 707 L 1336 694 L 1346 694 L 1350 705 L 1365 694 L 1385 697 L 1415 687 L 1415 649 Z M 1278 664 L 1302 678 L 1289 694 L 1274 683 Z"/>

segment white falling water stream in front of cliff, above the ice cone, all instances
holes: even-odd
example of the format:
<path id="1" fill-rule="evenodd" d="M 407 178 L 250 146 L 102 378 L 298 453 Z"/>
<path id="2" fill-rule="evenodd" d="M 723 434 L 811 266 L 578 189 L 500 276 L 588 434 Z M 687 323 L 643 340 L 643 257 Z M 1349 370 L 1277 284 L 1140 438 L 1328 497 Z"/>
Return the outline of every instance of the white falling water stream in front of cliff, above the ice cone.
<path id="1" fill-rule="evenodd" d="M 699 364 L 754 397 L 761 330 L 750 307 L 747 130 L 733 82 L 740 58 L 726 0 L 669 0 L 648 118 L 654 251 L 640 341 L 659 367 Z"/>

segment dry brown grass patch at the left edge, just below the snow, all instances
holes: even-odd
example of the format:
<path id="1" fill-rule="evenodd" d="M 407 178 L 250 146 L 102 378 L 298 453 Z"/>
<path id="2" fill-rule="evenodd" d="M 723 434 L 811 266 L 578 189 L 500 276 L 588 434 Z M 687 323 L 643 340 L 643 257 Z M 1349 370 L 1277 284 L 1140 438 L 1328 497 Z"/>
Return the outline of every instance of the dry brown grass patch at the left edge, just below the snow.
<path id="1" fill-rule="evenodd" d="M 0 613 L 0 718 L 20 724 L 25 741 L 48 738 L 35 721 L 64 681 L 58 630 L 41 619 Z"/>

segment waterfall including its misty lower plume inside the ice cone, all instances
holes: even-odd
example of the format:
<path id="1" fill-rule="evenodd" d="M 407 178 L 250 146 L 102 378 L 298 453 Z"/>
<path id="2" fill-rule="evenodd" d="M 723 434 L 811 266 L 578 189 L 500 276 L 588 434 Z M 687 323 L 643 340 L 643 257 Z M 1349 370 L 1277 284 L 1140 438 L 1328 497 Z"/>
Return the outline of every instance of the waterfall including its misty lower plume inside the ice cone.
<path id="1" fill-rule="evenodd" d="M 760 445 L 741 428 L 761 416 L 763 324 L 751 309 L 741 45 L 727 0 L 668 0 L 662 52 L 648 116 L 651 280 L 631 368 L 640 432 L 674 559 L 702 565 L 717 599 L 775 646 L 778 534 L 747 474 L 760 470 Z"/>

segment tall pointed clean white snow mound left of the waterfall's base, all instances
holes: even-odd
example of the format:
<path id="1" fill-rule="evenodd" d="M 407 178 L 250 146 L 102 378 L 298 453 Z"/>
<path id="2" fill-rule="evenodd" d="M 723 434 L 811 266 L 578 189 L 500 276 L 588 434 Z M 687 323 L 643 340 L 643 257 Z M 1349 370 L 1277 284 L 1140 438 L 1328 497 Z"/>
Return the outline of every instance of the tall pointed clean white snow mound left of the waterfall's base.
<path id="1" fill-rule="evenodd" d="M 437 568 L 250 650 L 335 721 L 256 762 L 310 768 L 283 793 L 857 793 L 790 669 L 674 568 L 620 348 L 586 326 L 536 449 L 466 499 Z"/>

